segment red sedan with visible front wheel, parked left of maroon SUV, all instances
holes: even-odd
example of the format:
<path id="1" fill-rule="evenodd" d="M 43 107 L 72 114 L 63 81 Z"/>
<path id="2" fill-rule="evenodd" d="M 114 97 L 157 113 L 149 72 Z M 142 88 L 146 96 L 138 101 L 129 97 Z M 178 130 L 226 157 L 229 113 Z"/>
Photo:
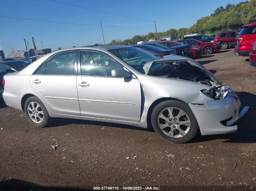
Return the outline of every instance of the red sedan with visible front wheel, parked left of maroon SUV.
<path id="1" fill-rule="evenodd" d="M 201 41 L 195 39 L 183 39 L 177 40 L 177 42 L 199 46 L 204 54 L 216 53 L 221 49 L 221 46 L 218 43 L 202 43 Z"/>

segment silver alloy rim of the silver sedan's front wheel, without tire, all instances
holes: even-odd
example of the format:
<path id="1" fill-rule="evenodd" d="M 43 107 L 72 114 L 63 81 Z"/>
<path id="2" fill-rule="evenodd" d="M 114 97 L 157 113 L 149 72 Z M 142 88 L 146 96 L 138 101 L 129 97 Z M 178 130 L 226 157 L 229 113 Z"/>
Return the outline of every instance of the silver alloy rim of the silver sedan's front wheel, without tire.
<path id="1" fill-rule="evenodd" d="M 159 113 L 158 126 L 169 137 L 180 138 L 188 134 L 191 121 L 185 111 L 177 107 L 168 107 Z"/>

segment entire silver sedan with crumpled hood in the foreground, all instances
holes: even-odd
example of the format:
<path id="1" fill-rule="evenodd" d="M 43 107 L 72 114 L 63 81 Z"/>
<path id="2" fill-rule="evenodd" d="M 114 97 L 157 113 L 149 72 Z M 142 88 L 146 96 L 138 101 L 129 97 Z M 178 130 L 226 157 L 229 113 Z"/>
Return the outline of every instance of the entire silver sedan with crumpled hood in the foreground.
<path id="1" fill-rule="evenodd" d="M 176 143 L 231 133 L 246 113 L 231 88 L 182 56 L 164 59 L 131 46 L 87 46 L 49 53 L 4 76 L 5 103 L 45 127 L 54 117 L 148 128 Z"/>

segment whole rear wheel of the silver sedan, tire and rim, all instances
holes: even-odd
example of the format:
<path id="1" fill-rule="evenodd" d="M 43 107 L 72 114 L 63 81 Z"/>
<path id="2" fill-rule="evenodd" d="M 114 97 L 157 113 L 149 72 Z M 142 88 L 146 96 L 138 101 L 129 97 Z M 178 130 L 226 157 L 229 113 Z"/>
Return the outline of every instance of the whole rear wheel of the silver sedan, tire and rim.
<path id="1" fill-rule="evenodd" d="M 38 97 L 29 97 L 25 102 L 24 110 L 28 121 L 33 126 L 45 127 L 51 121 L 48 111 Z"/>

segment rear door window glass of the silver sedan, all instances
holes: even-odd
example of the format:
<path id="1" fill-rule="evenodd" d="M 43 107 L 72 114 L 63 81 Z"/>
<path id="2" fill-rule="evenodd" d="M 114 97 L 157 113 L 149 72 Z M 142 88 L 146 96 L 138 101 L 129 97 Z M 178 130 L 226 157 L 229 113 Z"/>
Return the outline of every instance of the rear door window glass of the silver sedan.
<path id="1" fill-rule="evenodd" d="M 56 54 L 46 61 L 45 74 L 74 75 L 74 64 L 75 51 Z M 38 72 L 43 73 L 43 68 L 40 69 Z"/>

